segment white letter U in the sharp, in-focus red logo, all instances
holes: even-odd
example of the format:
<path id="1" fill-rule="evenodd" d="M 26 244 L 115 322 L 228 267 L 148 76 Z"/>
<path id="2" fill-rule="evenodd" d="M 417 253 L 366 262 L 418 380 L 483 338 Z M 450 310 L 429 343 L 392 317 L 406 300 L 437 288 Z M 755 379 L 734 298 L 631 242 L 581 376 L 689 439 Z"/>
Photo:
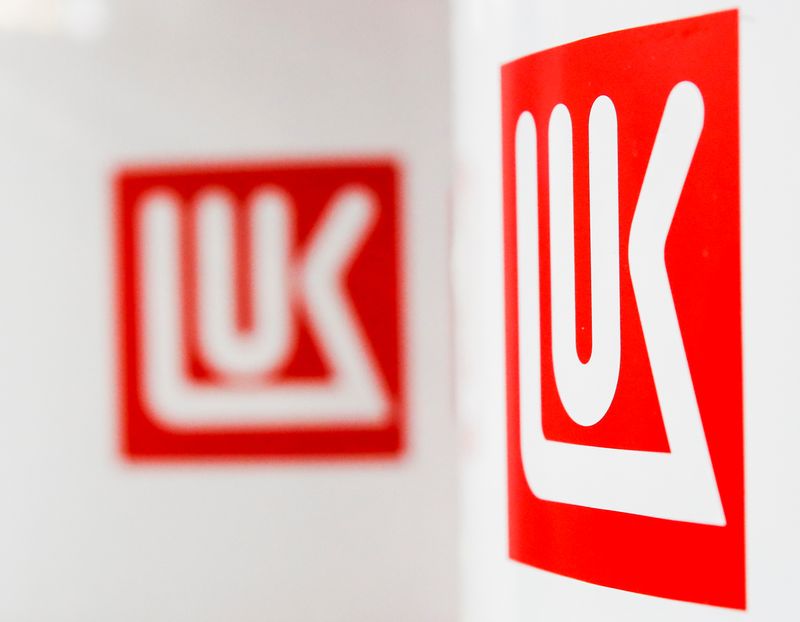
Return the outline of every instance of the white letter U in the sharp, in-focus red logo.
<path id="1" fill-rule="evenodd" d="M 606 96 L 589 114 L 592 353 L 578 358 L 572 121 L 564 104 L 550 115 L 550 290 L 553 372 L 570 418 L 594 425 L 608 411 L 620 366 L 617 114 Z"/>

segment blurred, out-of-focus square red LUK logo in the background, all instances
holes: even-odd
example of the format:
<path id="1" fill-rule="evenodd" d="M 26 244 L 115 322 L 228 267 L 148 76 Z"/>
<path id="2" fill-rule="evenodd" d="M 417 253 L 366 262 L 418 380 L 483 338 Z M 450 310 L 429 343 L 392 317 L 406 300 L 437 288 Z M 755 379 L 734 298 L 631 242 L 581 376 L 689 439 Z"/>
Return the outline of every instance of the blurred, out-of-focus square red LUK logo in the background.
<path id="1" fill-rule="evenodd" d="M 396 177 L 385 162 L 120 175 L 128 455 L 399 451 Z"/>

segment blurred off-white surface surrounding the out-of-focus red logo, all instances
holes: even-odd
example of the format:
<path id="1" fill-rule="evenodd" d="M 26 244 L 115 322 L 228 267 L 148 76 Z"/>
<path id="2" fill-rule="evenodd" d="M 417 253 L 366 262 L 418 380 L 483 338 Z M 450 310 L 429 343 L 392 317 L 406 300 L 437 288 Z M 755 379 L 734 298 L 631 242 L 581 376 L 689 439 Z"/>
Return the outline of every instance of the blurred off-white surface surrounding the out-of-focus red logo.
<path id="1" fill-rule="evenodd" d="M 447 27 L 439 0 L 0 7 L 0 620 L 454 619 Z M 372 153 L 404 166 L 409 452 L 124 463 L 116 168 Z"/>

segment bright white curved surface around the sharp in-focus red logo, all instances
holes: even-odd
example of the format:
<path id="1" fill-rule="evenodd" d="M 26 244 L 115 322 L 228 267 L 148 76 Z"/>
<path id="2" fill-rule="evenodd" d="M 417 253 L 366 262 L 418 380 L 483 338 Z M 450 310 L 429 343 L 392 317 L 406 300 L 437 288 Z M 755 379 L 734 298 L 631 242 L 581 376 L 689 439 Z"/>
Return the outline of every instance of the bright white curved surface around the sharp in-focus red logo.
<path id="1" fill-rule="evenodd" d="M 453 2 L 465 622 L 800 618 L 800 8 L 778 0 L 740 7 L 747 613 L 598 587 L 507 559 L 500 65 L 587 36 L 734 7 L 712 0 Z"/>

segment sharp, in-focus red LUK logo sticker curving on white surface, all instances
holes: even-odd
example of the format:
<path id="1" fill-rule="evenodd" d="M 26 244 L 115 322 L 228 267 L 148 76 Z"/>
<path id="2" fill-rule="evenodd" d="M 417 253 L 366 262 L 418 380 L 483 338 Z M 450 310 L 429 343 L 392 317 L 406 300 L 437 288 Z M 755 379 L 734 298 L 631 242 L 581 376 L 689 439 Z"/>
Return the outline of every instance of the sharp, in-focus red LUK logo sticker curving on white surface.
<path id="1" fill-rule="evenodd" d="M 737 13 L 503 67 L 510 553 L 744 608 Z"/>

